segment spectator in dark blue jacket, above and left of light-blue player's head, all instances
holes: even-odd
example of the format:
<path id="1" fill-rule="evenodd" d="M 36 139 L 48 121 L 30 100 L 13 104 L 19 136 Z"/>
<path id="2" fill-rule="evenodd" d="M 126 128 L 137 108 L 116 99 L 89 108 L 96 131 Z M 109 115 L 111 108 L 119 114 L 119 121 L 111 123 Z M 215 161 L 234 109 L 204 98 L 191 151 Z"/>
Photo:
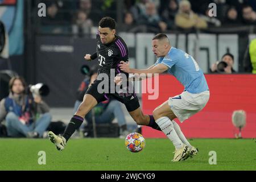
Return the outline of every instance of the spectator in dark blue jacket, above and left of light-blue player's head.
<path id="1" fill-rule="evenodd" d="M 148 28 L 148 31 L 164 32 L 167 30 L 167 24 L 162 21 L 160 16 L 157 13 L 155 4 L 148 2 L 146 4 L 146 14 L 141 15 L 138 20 L 138 24 L 143 24 Z"/>

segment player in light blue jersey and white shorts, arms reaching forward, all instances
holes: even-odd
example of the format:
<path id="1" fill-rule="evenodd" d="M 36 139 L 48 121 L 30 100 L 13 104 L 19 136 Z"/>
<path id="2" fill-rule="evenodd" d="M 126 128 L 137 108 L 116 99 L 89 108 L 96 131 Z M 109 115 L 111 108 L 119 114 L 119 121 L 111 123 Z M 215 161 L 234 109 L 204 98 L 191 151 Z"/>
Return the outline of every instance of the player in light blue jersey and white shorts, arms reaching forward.
<path id="1" fill-rule="evenodd" d="M 162 105 L 156 107 L 153 111 L 153 116 L 160 129 L 175 146 L 175 154 L 172 161 L 185 160 L 189 156 L 196 155 L 198 150 L 191 146 L 180 130 L 179 125 L 173 119 L 178 118 L 180 122 L 183 122 L 202 110 L 210 96 L 208 84 L 195 59 L 181 49 L 172 47 L 166 34 L 154 36 L 152 39 L 152 51 L 158 57 L 158 60 L 151 67 L 133 69 L 129 67 L 129 63 L 121 61 L 119 68 L 127 73 L 135 73 L 135 75 L 167 71 L 184 86 L 181 94 L 170 97 Z M 115 82 L 120 82 L 121 79 L 121 77 L 117 76 L 115 77 Z"/>

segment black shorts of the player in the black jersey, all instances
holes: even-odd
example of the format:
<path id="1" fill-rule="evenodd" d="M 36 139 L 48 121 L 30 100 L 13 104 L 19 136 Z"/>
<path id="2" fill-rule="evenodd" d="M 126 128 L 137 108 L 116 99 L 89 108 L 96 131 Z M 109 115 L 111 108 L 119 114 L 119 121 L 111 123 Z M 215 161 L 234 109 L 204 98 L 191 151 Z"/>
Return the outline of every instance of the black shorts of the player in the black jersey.
<path id="1" fill-rule="evenodd" d="M 88 88 L 85 94 L 90 94 L 93 96 L 97 102 L 103 102 L 106 100 L 118 100 L 125 104 L 125 107 L 127 111 L 131 112 L 139 108 L 139 100 L 137 95 L 134 92 L 133 86 L 130 84 L 130 90 L 131 92 L 128 92 L 129 90 L 129 84 L 127 84 L 127 88 L 121 89 L 117 92 L 114 93 L 99 93 L 98 92 L 98 84 L 100 84 L 101 80 L 95 80 L 92 85 Z"/>

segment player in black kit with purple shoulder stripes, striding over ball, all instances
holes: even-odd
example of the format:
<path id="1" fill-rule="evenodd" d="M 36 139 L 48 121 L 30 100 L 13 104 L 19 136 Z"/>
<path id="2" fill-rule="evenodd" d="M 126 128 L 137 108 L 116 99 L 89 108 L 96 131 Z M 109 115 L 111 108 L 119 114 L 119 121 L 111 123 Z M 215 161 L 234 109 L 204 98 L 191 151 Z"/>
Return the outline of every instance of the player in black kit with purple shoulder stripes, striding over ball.
<path id="1" fill-rule="evenodd" d="M 64 149 L 68 139 L 81 126 L 85 115 L 94 106 L 96 106 L 98 102 L 108 100 L 109 98 L 115 98 L 125 104 L 129 114 L 138 125 L 146 125 L 153 129 L 160 130 L 152 115 L 144 115 L 142 113 L 133 85 L 127 83 L 127 86 L 123 86 L 123 88 L 119 89 L 118 92 L 115 90 L 114 77 L 121 73 L 118 68 L 119 62 L 121 60 L 128 61 L 128 48 L 123 39 L 118 35 L 115 35 L 115 20 L 113 18 L 105 17 L 100 20 L 96 40 L 97 52 L 93 53 L 93 55 L 86 54 L 84 58 L 89 61 L 98 57 L 98 78 L 86 91 L 84 100 L 77 109 L 75 115 L 71 118 L 71 121 L 68 123 L 63 136 L 59 137 L 52 131 L 49 131 L 49 139 L 55 144 L 57 150 Z M 127 73 L 122 73 L 126 75 L 126 78 L 128 78 Z M 107 93 L 101 93 L 98 91 L 98 85 L 102 82 L 102 80 L 99 79 L 101 75 L 105 76 L 104 81 L 105 78 L 109 79 L 107 85 L 109 86 L 109 89 Z M 113 75 L 113 77 L 111 75 Z M 111 89 L 113 88 L 111 86 L 113 84 L 114 90 Z"/>

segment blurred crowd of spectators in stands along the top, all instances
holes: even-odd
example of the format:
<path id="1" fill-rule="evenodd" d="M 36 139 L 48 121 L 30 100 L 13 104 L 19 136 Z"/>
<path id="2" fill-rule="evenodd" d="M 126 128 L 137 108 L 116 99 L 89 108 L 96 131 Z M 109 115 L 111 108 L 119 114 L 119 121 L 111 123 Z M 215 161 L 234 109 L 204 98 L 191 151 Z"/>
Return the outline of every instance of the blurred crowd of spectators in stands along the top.
<path id="1" fill-rule="evenodd" d="M 47 15 L 40 30 L 47 33 L 90 34 L 103 16 L 118 19 L 116 0 L 44 0 Z M 256 25 L 254 0 L 124 0 L 118 31 L 168 32 L 213 27 Z M 209 6 L 214 3 L 213 6 Z M 216 9 L 214 6 L 216 5 Z"/>

